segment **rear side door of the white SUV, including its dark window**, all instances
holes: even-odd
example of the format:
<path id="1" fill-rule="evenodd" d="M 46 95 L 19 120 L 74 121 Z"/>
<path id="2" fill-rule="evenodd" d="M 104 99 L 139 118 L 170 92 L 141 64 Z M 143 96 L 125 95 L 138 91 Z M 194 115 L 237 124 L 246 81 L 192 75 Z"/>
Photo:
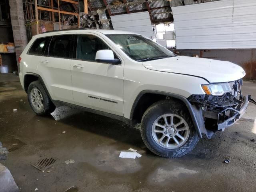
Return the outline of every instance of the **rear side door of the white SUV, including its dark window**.
<path id="1" fill-rule="evenodd" d="M 48 50 L 40 59 L 38 71 L 52 99 L 74 104 L 70 66 L 73 57 L 74 35 L 52 36 Z"/>

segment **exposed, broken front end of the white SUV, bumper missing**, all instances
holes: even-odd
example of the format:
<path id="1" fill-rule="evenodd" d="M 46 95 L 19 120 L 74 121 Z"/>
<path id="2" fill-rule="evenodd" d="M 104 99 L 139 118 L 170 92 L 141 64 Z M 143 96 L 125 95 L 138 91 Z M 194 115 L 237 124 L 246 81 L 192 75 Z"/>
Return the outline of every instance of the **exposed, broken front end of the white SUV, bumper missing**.
<path id="1" fill-rule="evenodd" d="M 243 96 L 242 79 L 230 82 L 229 85 L 232 92 L 221 96 L 206 94 L 188 97 L 188 101 L 194 106 L 194 112 L 198 113 L 201 132 L 208 138 L 211 138 L 214 132 L 223 131 L 238 121 L 248 108 L 249 102 L 256 104 L 250 95 Z"/>

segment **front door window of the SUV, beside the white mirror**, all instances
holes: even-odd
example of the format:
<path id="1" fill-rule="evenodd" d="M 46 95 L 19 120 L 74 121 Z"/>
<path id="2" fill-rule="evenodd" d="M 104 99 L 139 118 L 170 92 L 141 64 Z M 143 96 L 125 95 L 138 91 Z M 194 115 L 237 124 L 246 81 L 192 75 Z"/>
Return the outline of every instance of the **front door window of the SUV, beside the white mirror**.
<path id="1" fill-rule="evenodd" d="M 95 61 L 96 52 L 110 49 L 102 40 L 93 35 L 79 35 L 77 42 L 76 58 Z"/>

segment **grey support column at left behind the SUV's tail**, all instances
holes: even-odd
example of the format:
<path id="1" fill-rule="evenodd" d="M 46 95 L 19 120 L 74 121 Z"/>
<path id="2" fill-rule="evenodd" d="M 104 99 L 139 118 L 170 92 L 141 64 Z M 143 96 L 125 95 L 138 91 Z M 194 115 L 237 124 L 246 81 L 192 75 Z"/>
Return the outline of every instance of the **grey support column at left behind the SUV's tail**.
<path id="1" fill-rule="evenodd" d="M 20 66 L 18 64 L 18 58 L 20 54 L 28 44 L 28 38 L 26 34 L 26 27 L 24 21 L 24 12 L 22 0 L 9 0 L 10 15 L 12 22 L 12 32 L 15 44 L 16 61 L 18 66 L 18 72 L 20 72 Z"/>

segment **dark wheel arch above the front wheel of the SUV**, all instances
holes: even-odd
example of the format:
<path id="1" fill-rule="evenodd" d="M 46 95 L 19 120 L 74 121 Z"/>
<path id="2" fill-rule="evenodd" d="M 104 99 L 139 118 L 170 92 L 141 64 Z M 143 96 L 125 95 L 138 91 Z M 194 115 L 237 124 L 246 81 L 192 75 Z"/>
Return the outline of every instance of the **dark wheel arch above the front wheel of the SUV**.
<path id="1" fill-rule="evenodd" d="M 153 96 L 153 99 L 150 100 L 150 102 L 147 103 L 146 106 L 143 106 L 144 103 L 141 105 L 140 102 L 141 101 L 144 102 L 143 99 L 145 97 L 148 98 L 148 96 Z M 131 122 L 136 123 L 136 122 L 138 122 L 138 119 L 141 120 L 142 115 L 144 114 L 144 112 L 146 111 L 146 109 L 150 105 L 152 105 L 154 102 L 156 102 L 158 100 L 166 99 L 167 97 L 174 98 L 175 100 L 179 100 L 180 102 L 182 102 L 188 108 L 188 112 L 190 113 L 190 116 L 192 118 L 192 121 L 193 121 L 194 127 L 196 129 L 196 132 L 197 132 L 198 136 L 200 138 L 202 138 L 202 133 L 201 133 L 200 126 L 199 126 L 199 124 L 201 124 L 202 122 L 201 121 L 198 122 L 197 117 L 195 115 L 195 112 L 192 108 L 192 105 L 190 104 L 190 102 L 188 102 L 188 100 L 184 96 L 174 94 L 174 93 L 155 91 L 155 90 L 143 90 L 143 91 L 141 91 L 138 94 L 138 96 L 136 97 L 136 99 L 134 100 L 134 103 L 132 105 L 132 109 L 131 109 L 131 112 L 130 112 Z M 143 111 L 143 114 L 141 115 L 140 112 L 138 112 L 138 111 L 140 111 L 140 112 Z"/>

